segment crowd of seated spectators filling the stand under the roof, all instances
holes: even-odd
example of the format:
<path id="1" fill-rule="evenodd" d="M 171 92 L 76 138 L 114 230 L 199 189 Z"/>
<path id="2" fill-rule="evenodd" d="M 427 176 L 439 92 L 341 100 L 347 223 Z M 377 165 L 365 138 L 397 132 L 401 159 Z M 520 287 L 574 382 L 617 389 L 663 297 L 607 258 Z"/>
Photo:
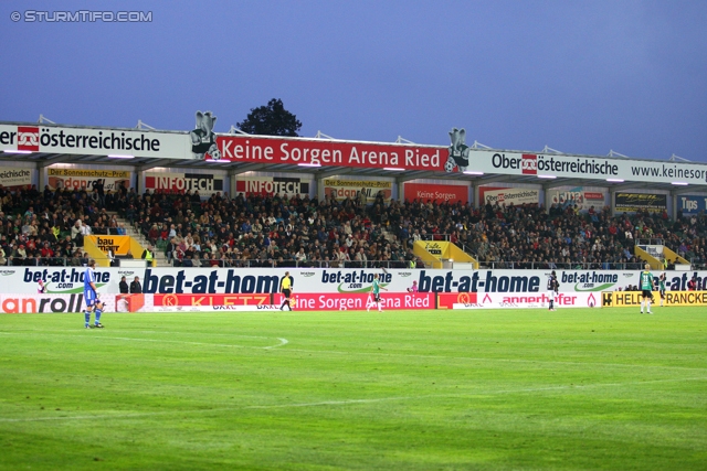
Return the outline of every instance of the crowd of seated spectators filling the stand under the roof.
<path id="1" fill-rule="evenodd" d="M 184 267 L 390 267 L 422 266 L 419 239 L 451 240 L 490 268 L 641 269 L 639 239 L 659 239 L 703 267 L 707 216 L 636 213 L 612 216 L 609 207 L 430 201 L 373 204 L 327 195 L 243 195 L 198 192 L 116 193 L 0 186 L 0 264 L 85 263 L 86 235 L 125 234 L 116 213 Z M 674 263 L 675 260 L 667 260 Z"/>

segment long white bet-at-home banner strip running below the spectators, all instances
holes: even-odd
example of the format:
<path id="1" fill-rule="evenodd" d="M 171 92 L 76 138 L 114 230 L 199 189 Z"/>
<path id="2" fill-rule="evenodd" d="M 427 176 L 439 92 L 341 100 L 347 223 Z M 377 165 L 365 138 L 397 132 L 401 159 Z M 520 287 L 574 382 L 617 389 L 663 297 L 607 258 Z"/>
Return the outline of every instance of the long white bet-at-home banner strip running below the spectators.
<path id="1" fill-rule="evenodd" d="M 418 282 L 420 292 L 545 292 L 550 270 L 453 270 L 356 268 L 99 268 L 99 292 L 118 293 L 122 276 L 139 277 L 143 291 L 165 295 L 253 295 L 276 293 L 285 271 L 294 278 L 295 293 L 367 293 L 378 274 L 390 292 L 407 292 Z M 556 270 L 560 292 L 599 292 L 625 290 L 639 285 L 640 271 Z M 82 267 L 3 267 L 0 282 L 3 292 L 36 293 L 41 279 L 49 293 L 83 293 Z M 657 289 L 658 271 L 655 286 Z M 685 290 L 697 277 L 697 289 L 707 283 L 707 271 L 668 271 L 667 289 Z"/>

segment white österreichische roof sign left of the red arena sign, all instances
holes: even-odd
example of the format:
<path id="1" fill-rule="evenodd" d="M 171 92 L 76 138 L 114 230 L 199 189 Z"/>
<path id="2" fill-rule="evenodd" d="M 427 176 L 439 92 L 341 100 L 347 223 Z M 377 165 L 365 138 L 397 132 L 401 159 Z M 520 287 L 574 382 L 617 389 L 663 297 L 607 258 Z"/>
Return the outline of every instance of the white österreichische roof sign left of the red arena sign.
<path id="1" fill-rule="evenodd" d="M 193 159 L 188 133 L 46 125 L 0 125 L 0 150 Z"/>

